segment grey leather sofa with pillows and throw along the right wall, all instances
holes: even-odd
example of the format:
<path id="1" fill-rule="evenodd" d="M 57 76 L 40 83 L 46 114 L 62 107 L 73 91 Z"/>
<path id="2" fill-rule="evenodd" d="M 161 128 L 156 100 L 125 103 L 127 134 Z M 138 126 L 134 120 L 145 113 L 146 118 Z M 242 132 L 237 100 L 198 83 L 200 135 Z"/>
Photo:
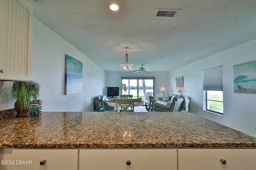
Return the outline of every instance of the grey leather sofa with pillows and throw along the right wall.
<path id="1" fill-rule="evenodd" d="M 178 94 L 163 95 L 154 104 L 154 111 L 188 111 L 188 97 Z"/>

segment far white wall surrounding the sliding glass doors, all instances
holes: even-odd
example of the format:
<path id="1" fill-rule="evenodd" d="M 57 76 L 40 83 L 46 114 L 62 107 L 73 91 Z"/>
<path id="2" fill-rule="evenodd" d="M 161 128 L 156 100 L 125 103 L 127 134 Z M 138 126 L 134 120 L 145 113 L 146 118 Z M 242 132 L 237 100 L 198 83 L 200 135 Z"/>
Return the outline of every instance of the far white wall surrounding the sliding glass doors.
<path id="1" fill-rule="evenodd" d="M 106 89 L 105 94 L 107 94 L 107 87 L 120 87 L 121 77 L 143 77 L 142 72 L 136 74 L 132 72 L 107 72 L 106 73 Z M 144 77 L 155 77 L 155 98 L 161 97 L 162 92 L 160 92 L 161 87 L 165 87 L 166 92 L 169 92 L 169 82 L 168 82 L 168 72 L 152 72 L 152 74 L 144 73 Z M 157 99 L 156 99 L 157 100 Z"/>

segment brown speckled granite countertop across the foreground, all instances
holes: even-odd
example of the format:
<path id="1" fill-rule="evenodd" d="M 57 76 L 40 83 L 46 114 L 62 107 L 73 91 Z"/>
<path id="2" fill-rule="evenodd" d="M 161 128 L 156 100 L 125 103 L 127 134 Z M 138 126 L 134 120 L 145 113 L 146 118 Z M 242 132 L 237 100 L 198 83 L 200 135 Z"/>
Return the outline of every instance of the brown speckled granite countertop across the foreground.
<path id="1" fill-rule="evenodd" d="M 0 148 L 256 147 L 256 138 L 188 112 L 43 112 L 0 120 Z"/>

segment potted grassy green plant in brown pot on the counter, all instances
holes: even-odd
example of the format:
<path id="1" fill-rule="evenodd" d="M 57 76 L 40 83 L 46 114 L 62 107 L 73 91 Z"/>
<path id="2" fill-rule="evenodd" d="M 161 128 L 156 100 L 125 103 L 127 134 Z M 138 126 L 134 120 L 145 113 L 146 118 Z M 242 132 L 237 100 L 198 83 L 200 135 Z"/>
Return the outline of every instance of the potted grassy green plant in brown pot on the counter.
<path id="1" fill-rule="evenodd" d="M 31 107 L 31 100 L 36 102 L 41 85 L 34 81 L 15 81 L 12 84 L 10 98 L 15 102 L 17 117 L 26 116 Z"/>

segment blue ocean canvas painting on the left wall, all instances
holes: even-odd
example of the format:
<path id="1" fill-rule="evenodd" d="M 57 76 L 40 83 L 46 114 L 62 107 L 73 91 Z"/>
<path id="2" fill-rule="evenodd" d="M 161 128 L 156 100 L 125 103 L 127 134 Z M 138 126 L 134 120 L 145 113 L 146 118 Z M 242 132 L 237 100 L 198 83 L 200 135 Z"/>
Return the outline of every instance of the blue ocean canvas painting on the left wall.
<path id="1" fill-rule="evenodd" d="M 83 63 L 65 55 L 65 95 L 82 93 Z"/>

